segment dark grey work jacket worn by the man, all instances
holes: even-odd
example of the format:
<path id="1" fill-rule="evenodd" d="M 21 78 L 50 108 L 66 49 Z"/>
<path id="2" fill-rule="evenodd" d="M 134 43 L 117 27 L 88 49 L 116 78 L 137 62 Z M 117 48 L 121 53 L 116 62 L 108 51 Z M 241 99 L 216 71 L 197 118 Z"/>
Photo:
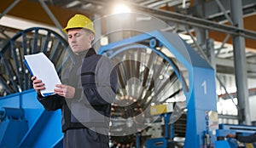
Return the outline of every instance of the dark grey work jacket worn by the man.
<path id="1" fill-rule="evenodd" d="M 112 60 L 90 48 L 77 55 L 75 64 L 63 72 L 61 83 L 76 88 L 73 99 L 54 94 L 38 95 L 38 100 L 48 111 L 62 110 L 63 132 L 70 128 L 108 128 L 111 103 L 118 87 Z"/>

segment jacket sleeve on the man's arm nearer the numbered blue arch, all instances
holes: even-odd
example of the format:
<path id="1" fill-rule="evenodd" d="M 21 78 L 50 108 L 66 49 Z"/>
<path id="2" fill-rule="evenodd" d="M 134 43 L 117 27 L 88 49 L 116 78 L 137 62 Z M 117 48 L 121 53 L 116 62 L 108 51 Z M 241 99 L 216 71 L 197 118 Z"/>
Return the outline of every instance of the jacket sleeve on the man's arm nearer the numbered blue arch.
<path id="1" fill-rule="evenodd" d="M 112 60 L 102 57 L 96 66 L 96 86 L 85 88 L 84 94 L 90 105 L 109 105 L 115 99 L 118 88 L 117 70 Z"/>

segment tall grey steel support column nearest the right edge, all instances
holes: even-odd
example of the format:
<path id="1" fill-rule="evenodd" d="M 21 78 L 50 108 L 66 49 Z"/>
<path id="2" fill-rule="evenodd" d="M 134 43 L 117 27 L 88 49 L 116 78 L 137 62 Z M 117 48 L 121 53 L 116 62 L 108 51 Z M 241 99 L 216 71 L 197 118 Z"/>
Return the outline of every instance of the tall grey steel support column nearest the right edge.
<path id="1" fill-rule="evenodd" d="M 230 1 L 231 18 L 234 26 L 243 30 L 242 3 L 241 1 Z M 240 32 L 242 33 L 242 32 Z M 233 36 L 235 72 L 236 72 L 236 96 L 238 100 L 239 123 L 251 125 L 248 86 L 247 86 L 247 60 L 245 53 L 245 39 L 242 36 Z"/>

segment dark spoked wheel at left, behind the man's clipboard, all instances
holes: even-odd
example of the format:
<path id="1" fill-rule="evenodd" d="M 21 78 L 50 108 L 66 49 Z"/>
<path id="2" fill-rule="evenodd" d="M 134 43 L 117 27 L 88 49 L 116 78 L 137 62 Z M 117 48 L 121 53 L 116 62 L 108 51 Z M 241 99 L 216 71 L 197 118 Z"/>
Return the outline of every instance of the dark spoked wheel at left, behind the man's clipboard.
<path id="1" fill-rule="evenodd" d="M 32 88 L 31 74 L 23 63 L 24 55 L 43 52 L 61 75 L 64 57 L 68 55 L 65 60 L 72 60 L 70 51 L 67 41 L 55 31 L 33 27 L 18 32 L 0 51 L 0 96 Z"/>

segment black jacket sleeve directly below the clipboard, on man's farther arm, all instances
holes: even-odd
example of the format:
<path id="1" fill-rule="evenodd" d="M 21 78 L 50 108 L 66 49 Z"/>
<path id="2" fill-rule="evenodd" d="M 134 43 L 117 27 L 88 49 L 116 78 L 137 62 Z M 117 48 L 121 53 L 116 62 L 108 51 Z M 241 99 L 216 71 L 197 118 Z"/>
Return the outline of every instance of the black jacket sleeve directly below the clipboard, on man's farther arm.
<path id="1" fill-rule="evenodd" d="M 65 100 L 63 97 L 57 94 L 49 95 L 47 97 L 38 94 L 38 101 L 44 106 L 45 110 L 55 111 L 61 109 Z"/>

